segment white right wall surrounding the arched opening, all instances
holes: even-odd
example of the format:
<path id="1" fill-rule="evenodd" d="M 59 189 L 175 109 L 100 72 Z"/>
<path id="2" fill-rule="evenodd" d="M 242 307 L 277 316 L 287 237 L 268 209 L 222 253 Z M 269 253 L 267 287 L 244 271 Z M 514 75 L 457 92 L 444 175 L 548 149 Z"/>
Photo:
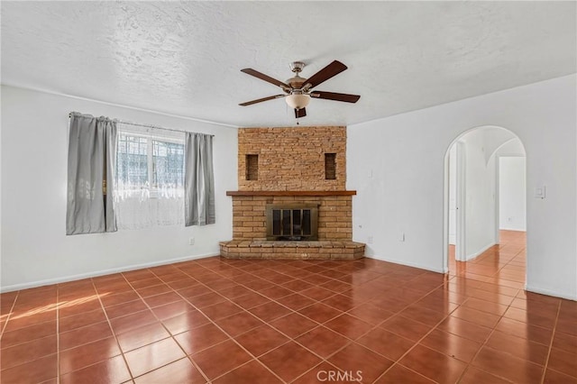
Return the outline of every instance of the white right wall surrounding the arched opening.
<path id="1" fill-rule="evenodd" d="M 527 151 L 527 289 L 577 299 L 576 82 L 555 78 L 349 126 L 354 239 L 373 237 L 371 257 L 444 271 L 445 153 L 474 127 L 503 127 Z M 545 199 L 532 197 L 539 186 Z"/>

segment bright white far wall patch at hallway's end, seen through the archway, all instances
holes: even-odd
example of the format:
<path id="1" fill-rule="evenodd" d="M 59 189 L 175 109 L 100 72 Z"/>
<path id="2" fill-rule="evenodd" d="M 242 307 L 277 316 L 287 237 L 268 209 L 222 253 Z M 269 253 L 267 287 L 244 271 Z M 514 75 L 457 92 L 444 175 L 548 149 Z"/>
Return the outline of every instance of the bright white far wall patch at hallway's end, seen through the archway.
<path id="1" fill-rule="evenodd" d="M 499 157 L 499 228 L 526 230 L 525 158 Z"/>

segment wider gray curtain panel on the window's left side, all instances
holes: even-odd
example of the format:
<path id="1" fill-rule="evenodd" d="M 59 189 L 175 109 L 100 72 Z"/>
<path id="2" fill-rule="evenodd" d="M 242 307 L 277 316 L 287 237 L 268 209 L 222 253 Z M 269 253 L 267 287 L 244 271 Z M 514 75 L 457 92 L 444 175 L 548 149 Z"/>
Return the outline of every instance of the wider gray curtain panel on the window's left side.
<path id="1" fill-rule="evenodd" d="M 114 121 L 70 114 L 66 234 L 116 231 L 112 196 L 115 155 Z"/>

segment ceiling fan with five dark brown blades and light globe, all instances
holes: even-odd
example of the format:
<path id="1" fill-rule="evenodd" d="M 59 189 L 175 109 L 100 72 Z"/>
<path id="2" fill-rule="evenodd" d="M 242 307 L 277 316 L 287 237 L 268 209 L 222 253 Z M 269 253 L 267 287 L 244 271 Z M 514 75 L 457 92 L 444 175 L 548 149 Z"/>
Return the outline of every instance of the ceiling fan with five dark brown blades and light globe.
<path id="1" fill-rule="evenodd" d="M 334 60 L 332 63 L 327 65 L 324 69 L 319 70 L 310 78 L 301 78 L 298 76 L 301 70 L 305 68 L 305 63 L 301 61 L 295 61 L 290 63 L 290 69 L 295 73 L 295 76 L 289 78 L 286 82 L 277 80 L 276 78 L 270 78 L 269 76 L 254 70 L 251 68 L 241 69 L 248 75 L 254 76 L 255 78 L 260 78 L 270 84 L 274 84 L 280 87 L 284 94 L 262 97 L 256 100 L 247 101 L 246 103 L 241 103 L 239 105 L 253 105 L 261 103 L 263 101 L 272 100 L 275 98 L 285 97 L 287 104 L 295 110 L 295 117 L 304 117 L 307 115 L 307 110 L 305 109 L 310 102 L 311 97 L 324 98 L 326 100 L 343 101 L 346 103 L 356 103 L 361 96 L 359 95 L 349 95 L 349 94 L 337 94 L 334 92 L 325 92 L 313 90 L 314 87 L 325 82 L 329 78 L 333 78 L 339 73 L 343 72 L 347 67 L 340 61 Z"/>

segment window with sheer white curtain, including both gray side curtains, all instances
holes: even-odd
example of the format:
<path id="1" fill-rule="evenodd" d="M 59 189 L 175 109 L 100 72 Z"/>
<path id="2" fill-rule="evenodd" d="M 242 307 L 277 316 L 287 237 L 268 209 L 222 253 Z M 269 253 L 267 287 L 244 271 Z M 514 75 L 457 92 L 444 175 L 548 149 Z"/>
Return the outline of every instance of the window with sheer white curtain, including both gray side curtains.
<path id="1" fill-rule="evenodd" d="M 66 234 L 215 224 L 212 135 L 69 118 Z"/>

